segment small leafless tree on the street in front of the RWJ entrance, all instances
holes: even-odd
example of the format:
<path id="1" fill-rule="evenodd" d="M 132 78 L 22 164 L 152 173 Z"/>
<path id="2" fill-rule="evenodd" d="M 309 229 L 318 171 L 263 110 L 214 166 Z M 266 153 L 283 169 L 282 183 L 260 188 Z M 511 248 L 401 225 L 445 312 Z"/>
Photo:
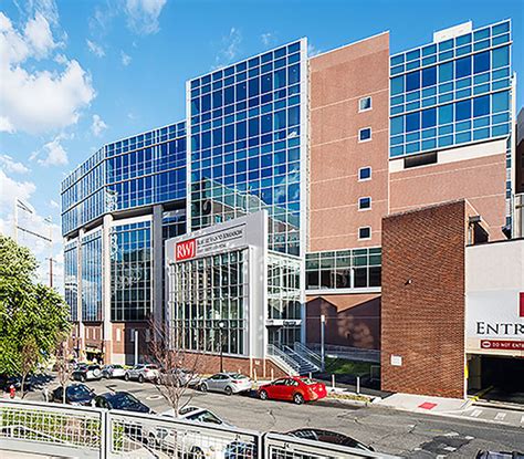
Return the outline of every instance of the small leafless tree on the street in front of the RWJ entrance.
<path id="1" fill-rule="evenodd" d="M 149 361 L 158 367 L 155 386 L 178 417 L 179 410 L 192 398 L 189 396 L 181 405 L 182 397 L 198 383 L 198 354 L 181 348 L 180 341 L 170 335 L 167 324 L 151 321 L 150 330 Z"/>

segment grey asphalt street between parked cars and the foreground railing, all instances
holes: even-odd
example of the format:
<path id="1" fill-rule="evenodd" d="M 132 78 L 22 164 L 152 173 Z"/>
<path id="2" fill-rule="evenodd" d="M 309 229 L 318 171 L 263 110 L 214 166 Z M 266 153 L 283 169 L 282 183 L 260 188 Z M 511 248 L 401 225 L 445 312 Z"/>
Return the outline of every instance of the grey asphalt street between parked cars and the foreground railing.
<path id="1" fill-rule="evenodd" d="M 97 394 L 127 390 L 155 411 L 168 409 L 150 383 L 102 379 L 87 383 Z M 51 383 L 53 388 L 55 384 Z M 28 399 L 42 399 L 39 392 Z M 325 399 L 301 406 L 285 401 L 262 401 L 254 397 L 202 394 L 188 389 L 186 400 L 208 408 L 238 427 L 285 432 L 301 427 L 317 427 L 349 435 L 377 451 L 407 458 L 474 458 L 480 449 L 524 451 L 523 427 L 511 427 L 495 419 L 464 415 L 442 417 L 378 407 L 355 407 L 346 401 Z"/>

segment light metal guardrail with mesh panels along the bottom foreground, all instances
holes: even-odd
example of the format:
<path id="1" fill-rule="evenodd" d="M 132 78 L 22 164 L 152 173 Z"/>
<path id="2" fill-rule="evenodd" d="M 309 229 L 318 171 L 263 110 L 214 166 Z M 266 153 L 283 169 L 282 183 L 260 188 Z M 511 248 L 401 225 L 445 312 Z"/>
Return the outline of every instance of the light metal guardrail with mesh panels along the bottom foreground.
<path id="1" fill-rule="evenodd" d="M 0 456 L 2 451 L 90 459 L 395 458 L 167 416 L 21 400 L 0 400 Z"/>

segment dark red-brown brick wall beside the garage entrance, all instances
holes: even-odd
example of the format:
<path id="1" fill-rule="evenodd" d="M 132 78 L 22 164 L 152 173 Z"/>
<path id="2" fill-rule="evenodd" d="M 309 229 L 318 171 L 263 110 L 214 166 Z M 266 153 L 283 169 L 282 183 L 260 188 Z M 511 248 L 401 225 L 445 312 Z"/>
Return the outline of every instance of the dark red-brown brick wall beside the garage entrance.
<path id="1" fill-rule="evenodd" d="M 464 396 L 467 208 L 451 201 L 382 220 L 384 390 Z"/>

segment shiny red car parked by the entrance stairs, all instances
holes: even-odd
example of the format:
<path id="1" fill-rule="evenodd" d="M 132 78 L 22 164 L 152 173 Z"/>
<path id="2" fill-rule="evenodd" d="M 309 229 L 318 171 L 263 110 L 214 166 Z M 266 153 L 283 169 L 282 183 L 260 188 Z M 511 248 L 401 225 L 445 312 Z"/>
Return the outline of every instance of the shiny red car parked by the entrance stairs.
<path id="1" fill-rule="evenodd" d="M 261 400 L 292 400 L 296 405 L 318 400 L 327 395 L 326 386 L 310 378 L 298 376 L 280 378 L 259 388 Z"/>

